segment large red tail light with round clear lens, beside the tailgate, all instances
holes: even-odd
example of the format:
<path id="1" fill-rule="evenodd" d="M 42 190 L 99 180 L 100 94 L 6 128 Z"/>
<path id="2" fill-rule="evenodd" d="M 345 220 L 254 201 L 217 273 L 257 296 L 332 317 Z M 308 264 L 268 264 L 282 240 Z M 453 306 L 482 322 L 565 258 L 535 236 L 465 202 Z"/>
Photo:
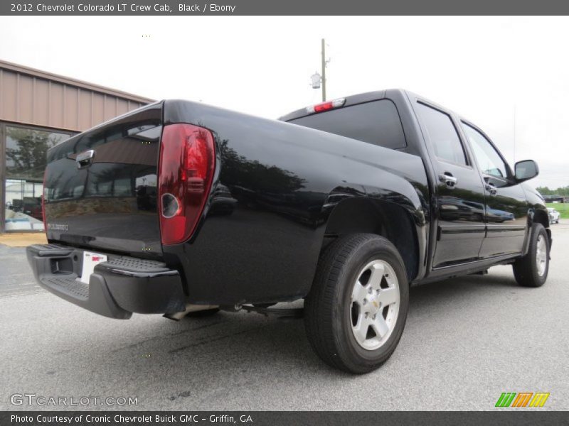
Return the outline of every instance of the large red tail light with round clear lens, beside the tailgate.
<path id="1" fill-rule="evenodd" d="M 210 131 L 191 124 L 164 126 L 158 175 L 162 244 L 179 244 L 193 234 L 211 189 L 215 161 Z"/>

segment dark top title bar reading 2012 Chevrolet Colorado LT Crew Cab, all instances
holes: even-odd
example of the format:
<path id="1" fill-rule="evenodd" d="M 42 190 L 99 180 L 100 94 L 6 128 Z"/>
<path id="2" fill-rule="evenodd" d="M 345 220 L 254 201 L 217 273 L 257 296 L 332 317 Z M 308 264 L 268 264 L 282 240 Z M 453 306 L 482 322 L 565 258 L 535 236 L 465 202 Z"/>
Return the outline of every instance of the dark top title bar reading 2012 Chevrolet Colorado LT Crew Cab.
<path id="1" fill-rule="evenodd" d="M 567 15 L 561 0 L 2 0 L 6 16 Z M 292 30 L 292 28 L 291 28 Z M 339 31 L 341 28 L 339 28 Z"/>

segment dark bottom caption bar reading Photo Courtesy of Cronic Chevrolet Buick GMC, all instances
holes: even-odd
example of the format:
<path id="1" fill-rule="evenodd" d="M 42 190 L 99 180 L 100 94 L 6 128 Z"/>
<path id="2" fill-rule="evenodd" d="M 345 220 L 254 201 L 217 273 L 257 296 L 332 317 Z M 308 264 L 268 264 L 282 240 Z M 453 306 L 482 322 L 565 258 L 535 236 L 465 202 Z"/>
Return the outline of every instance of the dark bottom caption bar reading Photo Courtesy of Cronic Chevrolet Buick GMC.
<path id="1" fill-rule="evenodd" d="M 4 411 L 2 426 L 292 426 L 292 425 L 566 425 L 568 412 L 499 409 L 464 411 Z"/>

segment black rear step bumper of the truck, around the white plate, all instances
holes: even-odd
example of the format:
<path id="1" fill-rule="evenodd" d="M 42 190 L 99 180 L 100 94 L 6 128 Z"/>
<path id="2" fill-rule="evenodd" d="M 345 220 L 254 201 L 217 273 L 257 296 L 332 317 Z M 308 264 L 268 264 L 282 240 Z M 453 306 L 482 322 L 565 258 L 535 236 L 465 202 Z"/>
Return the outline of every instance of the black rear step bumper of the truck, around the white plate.
<path id="1" fill-rule="evenodd" d="M 83 250 L 59 244 L 28 246 L 28 261 L 38 283 L 68 302 L 105 317 L 127 320 L 133 312 L 183 312 L 186 296 L 178 271 L 164 263 L 107 255 L 95 266 L 89 284 L 78 280 Z"/>

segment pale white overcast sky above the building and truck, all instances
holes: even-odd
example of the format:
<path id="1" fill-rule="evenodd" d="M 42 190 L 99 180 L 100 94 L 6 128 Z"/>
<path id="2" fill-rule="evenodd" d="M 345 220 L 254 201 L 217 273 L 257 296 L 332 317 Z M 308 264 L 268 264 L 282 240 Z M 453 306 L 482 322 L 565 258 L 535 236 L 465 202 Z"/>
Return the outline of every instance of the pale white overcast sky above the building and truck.
<path id="1" fill-rule="evenodd" d="M 535 186 L 569 185 L 569 18 L 0 17 L 0 58 L 153 99 L 277 118 L 320 100 L 400 87 L 482 127 Z M 1 94 L 0 94 L 1 96 Z M 515 120 L 514 120 L 515 117 Z"/>

